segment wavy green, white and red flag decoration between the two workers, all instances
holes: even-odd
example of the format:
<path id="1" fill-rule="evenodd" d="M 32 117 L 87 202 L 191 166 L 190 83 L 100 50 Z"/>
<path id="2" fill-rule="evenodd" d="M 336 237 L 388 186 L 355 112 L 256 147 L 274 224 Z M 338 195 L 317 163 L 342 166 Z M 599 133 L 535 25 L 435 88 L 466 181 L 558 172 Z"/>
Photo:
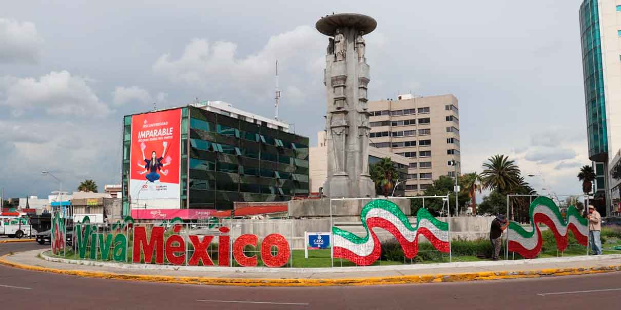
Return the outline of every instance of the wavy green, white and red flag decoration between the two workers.
<path id="1" fill-rule="evenodd" d="M 533 259 L 542 249 L 542 234 L 538 224 L 545 224 L 554 233 L 556 247 L 563 252 L 567 248 L 568 231 L 574 233 L 574 237 L 582 246 L 587 245 L 589 228 L 587 219 L 582 218 L 580 211 L 574 206 L 567 210 L 567 221 L 563 219 L 558 206 L 548 197 L 537 197 L 530 204 L 528 211 L 530 216 L 530 229 L 524 229 L 519 223 L 509 222 L 509 250 L 522 255 L 524 258 Z"/>

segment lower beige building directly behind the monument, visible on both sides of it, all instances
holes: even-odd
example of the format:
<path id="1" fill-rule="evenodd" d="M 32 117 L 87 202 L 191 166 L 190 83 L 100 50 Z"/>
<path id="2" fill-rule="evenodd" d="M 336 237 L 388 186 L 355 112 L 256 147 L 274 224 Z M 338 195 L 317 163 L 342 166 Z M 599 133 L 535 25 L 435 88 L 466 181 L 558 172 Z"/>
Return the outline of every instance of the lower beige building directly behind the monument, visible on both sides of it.
<path id="1" fill-rule="evenodd" d="M 317 133 L 317 146 L 309 149 L 309 159 L 311 161 L 309 178 L 311 179 L 311 193 L 313 195 L 323 192 L 322 187 L 324 187 L 325 180 L 328 176 L 327 157 L 328 149 L 325 131 L 319 131 L 319 133 Z M 396 168 L 399 171 L 399 180 L 406 180 L 410 159 L 390 153 L 386 149 L 378 149 L 373 146 L 369 148 L 369 165 L 375 164 L 385 157 L 389 157 L 391 161 L 395 163 Z M 405 188 L 405 182 L 399 182 L 399 184 L 397 184 L 397 188 L 394 190 L 394 196 L 404 196 Z"/>

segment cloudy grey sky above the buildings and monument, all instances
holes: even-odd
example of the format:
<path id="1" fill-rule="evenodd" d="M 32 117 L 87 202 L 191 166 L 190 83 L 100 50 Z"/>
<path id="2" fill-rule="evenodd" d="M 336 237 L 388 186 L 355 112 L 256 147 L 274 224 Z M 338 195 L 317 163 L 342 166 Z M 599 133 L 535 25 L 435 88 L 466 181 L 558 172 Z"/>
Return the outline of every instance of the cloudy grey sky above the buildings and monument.
<path id="1" fill-rule="evenodd" d="M 0 187 L 47 195 L 94 179 L 119 183 L 122 116 L 224 100 L 281 117 L 311 137 L 324 128 L 320 16 L 359 12 L 369 99 L 455 94 L 463 171 L 494 154 L 535 188 L 578 193 L 587 164 L 579 0 L 11 1 L 0 12 Z M 130 2 L 130 3 L 128 3 Z M 540 192 L 545 192 L 541 191 Z"/>

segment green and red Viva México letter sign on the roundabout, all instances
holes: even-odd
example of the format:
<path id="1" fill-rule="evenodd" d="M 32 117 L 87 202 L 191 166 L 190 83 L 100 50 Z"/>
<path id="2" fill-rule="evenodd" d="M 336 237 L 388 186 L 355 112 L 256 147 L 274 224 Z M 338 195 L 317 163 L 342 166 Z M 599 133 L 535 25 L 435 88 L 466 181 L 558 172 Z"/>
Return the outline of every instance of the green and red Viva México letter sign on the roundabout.
<path id="1" fill-rule="evenodd" d="M 185 233 L 182 236 L 183 226 L 180 224 L 174 224 L 171 229 L 163 226 L 148 226 L 148 228 L 150 229 L 132 225 L 131 228 L 102 233 L 97 232 L 95 224 L 78 224 L 76 252 L 80 259 L 127 262 L 127 254 L 130 251 L 130 260 L 133 263 L 214 266 L 207 249 L 212 242 L 217 241 L 219 266 L 230 266 L 231 256 L 243 267 L 256 267 L 258 263 L 257 255 L 244 253 L 244 249 L 248 246 L 257 248 L 259 238 L 255 234 L 242 234 L 232 241 L 229 236 L 230 229 L 225 226 L 219 228 L 217 235 L 204 236 Z M 131 241 L 128 240 L 128 236 L 133 236 Z M 278 249 L 275 255 L 273 247 Z M 291 257 L 289 242 L 281 234 L 265 236 L 260 248 L 261 260 L 267 267 L 283 267 Z"/>

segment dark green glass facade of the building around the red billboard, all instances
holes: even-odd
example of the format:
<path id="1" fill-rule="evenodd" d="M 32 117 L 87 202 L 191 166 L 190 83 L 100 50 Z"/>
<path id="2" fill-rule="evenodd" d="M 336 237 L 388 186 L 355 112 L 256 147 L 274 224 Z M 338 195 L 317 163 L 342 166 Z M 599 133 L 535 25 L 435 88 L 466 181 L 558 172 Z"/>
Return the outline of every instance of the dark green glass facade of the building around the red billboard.
<path id="1" fill-rule="evenodd" d="M 124 118 L 123 206 L 128 190 L 131 115 Z M 181 112 L 182 209 L 233 208 L 233 201 L 288 201 L 309 194 L 309 138 L 204 108 Z"/>

